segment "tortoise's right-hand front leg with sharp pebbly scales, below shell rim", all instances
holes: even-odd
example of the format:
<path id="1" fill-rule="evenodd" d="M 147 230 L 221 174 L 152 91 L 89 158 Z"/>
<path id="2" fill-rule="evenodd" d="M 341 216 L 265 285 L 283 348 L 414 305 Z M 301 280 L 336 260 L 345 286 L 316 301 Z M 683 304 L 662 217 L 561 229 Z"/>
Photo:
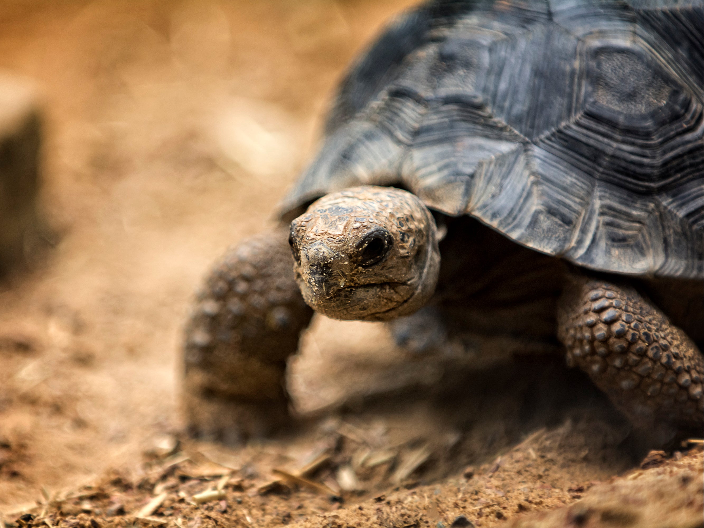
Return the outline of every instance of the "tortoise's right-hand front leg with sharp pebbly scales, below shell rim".
<path id="1" fill-rule="evenodd" d="M 567 362 L 587 372 L 654 441 L 669 441 L 677 429 L 701 434 L 702 353 L 634 288 L 571 275 L 558 308 L 558 337 Z"/>

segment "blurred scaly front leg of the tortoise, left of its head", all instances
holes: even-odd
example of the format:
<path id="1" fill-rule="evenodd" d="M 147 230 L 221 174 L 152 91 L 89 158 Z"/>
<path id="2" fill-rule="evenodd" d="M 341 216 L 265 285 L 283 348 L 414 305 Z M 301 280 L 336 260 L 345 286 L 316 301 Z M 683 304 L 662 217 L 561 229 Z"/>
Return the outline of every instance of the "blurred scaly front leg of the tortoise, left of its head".
<path id="1" fill-rule="evenodd" d="M 239 443 L 287 422 L 284 374 L 313 310 L 294 281 L 288 230 L 244 240 L 199 293 L 184 344 L 184 411 L 196 438 Z"/>

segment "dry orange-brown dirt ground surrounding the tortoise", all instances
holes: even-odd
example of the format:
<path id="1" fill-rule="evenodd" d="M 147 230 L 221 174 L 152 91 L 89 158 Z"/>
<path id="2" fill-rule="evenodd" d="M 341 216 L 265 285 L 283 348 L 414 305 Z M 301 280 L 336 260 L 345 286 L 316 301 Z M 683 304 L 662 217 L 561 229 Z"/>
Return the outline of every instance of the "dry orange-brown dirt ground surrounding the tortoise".
<path id="1" fill-rule="evenodd" d="M 560 358 L 409 357 L 377 324 L 314 320 L 296 431 L 180 435 L 201 277 L 271 225 L 344 66 L 409 4 L 0 0 L 0 68 L 43 94 L 47 224 L 0 286 L 0 522 L 702 525 L 700 448 L 632 469 L 647 449 Z"/>

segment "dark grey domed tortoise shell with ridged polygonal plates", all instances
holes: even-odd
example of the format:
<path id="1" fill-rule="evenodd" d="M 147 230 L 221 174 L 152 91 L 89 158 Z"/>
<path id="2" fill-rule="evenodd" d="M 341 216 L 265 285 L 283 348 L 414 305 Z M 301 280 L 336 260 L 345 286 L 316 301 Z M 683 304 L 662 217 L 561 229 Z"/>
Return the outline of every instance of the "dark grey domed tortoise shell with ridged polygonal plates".
<path id="1" fill-rule="evenodd" d="M 396 185 L 600 271 L 703 278 L 703 1 L 436 1 L 346 76 L 295 211 Z"/>

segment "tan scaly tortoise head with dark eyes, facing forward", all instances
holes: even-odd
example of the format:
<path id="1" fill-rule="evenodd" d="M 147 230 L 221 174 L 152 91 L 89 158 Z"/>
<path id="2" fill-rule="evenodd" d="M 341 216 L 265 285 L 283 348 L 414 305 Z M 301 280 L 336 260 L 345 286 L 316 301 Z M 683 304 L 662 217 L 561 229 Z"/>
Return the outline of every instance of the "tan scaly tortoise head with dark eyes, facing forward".
<path id="1" fill-rule="evenodd" d="M 322 197 L 291 222 L 303 299 L 333 319 L 387 321 L 433 295 L 435 221 L 410 192 L 365 185 Z"/>

